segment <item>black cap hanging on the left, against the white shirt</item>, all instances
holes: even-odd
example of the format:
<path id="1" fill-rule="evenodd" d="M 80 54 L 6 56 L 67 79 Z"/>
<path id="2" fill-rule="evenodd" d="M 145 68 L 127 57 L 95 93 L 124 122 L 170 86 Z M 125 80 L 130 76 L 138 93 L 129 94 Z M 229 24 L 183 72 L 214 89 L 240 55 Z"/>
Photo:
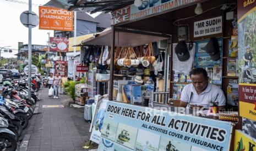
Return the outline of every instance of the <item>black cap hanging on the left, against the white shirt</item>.
<path id="1" fill-rule="evenodd" d="M 188 46 L 184 40 L 182 40 L 176 45 L 175 53 L 179 61 L 186 61 L 189 59 L 190 55 L 188 51 Z"/>

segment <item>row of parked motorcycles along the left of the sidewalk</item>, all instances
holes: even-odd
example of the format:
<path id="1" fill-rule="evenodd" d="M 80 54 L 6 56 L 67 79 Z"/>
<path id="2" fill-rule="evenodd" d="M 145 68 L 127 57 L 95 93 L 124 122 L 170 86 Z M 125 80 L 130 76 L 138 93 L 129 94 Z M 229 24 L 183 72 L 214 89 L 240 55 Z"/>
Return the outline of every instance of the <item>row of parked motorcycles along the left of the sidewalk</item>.
<path id="1" fill-rule="evenodd" d="M 31 78 L 31 98 L 28 92 L 28 78 L 0 84 L 0 150 L 15 150 L 23 130 L 34 114 L 34 105 L 40 100 L 37 91 L 41 79 Z M 32 80 L 35 80 L 32 82 Z"/>

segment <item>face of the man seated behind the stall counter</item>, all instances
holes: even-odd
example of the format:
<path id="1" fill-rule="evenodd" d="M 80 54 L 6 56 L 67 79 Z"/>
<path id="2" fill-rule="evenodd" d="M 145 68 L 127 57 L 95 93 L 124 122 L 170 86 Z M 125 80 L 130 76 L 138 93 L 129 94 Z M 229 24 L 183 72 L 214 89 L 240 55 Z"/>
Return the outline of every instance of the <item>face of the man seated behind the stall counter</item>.
<path id="1" fill-rule="evenodd" d="M 208 84 L 208 78 L 205 78 L 203 73 L 191 75 L 192 84 L 197 92 L 203 92 Z"/>

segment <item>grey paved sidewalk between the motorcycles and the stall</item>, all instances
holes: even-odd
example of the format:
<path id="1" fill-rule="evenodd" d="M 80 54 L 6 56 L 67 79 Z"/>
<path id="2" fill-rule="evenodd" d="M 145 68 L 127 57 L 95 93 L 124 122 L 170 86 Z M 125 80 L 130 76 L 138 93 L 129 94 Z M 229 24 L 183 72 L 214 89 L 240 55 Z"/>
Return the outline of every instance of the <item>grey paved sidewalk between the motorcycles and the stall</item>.
<path id="1" fill-rule="evenodd" d="M 90 124 L 86 123 L 84 108 L 67 107 L 69 98 L 48 97 L 48 89 L 39 91 L 39 114 L 33 115 L 23 132 L 30 134 L 28 150 L 86 150 L 82 146 L 90 138 Z M 42 108 L 43 105 L 61 105 L 61 108 Z"/>

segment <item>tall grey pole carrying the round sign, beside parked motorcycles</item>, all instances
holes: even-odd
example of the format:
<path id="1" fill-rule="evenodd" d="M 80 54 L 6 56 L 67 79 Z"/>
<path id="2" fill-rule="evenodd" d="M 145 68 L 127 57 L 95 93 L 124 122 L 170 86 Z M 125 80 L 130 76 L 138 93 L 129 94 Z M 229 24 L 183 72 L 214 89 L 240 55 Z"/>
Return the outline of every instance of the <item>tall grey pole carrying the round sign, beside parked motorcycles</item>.
<path id="1" fill-rule="evenodd" d="M 28 77 L 28 86 L 29 86 L 29 99 L 31 99 L 31 11 L 32 11 L 32 0 L 29 0 L 29 77 Z"/>

